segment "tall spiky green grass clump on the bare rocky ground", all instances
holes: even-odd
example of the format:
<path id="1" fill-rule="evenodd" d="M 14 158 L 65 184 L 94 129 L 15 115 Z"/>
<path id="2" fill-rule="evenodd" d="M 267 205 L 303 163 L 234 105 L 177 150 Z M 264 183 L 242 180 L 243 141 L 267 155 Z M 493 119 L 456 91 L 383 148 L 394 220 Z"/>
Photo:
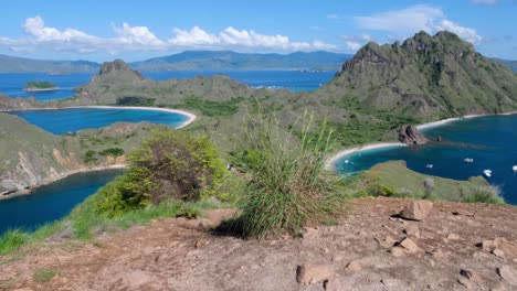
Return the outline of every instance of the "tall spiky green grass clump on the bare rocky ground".
<path id="1" fill-rule="evenodd" d="M 307 115 L 291 129 L 275 117 L 250 118 L 234 152 L 247 176 L 242 213 L 233 225 L 240 235 L 296 235 L 305 225 L 329 220 L 342 209 L 340 179 L 325 170 L 333 130 L 324 122 L 314 132 L 312 126 Z"/>

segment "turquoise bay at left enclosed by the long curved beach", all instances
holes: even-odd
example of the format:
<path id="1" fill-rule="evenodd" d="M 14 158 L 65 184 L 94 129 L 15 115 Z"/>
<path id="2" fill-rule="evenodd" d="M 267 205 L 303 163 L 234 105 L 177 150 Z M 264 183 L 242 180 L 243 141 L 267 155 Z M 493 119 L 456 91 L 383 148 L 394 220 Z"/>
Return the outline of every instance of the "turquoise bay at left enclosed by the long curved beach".
<path id="1" fill-rule="evenodd" d="M 56 110 L 10 111 L 27 121 L 54 134 L 75 132 L 87 128 L 102 128 L 115 122 L 163 123 L 179 127 L 188 117 L 158 110 L 116 109 L 116 108 L 73 108 Z"/>

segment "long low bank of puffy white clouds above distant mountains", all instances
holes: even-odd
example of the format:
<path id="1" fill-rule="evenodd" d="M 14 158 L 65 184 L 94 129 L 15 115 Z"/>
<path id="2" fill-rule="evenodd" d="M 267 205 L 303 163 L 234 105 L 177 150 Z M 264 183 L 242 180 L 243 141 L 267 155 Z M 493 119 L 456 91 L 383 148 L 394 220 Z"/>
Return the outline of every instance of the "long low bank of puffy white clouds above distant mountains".
<path id="1" fill-rule="evenodd" d="M 173 29 L 173 36 L 160 40 L 147 26 L 131 26 L 112 23 L 113 37 L 99 37 L 76 29 L 59 30 L 46 26 L 39 15 L 29 18 L 22 25 L 24 37 L 0 36 L 0 46 L 12 51 L 66 51 L 74 53 L 91 52 L 145 52 L 160 50 L 249 50 L 249 51 L 316 51 L 337 50 L 336 45 L 320 41 L 293 42 L 282 34 L 261 34 L 253 30 L 239 30 L 229 26 L 218 33 L 210 33 L 199 26 L 190 30 Z"/>

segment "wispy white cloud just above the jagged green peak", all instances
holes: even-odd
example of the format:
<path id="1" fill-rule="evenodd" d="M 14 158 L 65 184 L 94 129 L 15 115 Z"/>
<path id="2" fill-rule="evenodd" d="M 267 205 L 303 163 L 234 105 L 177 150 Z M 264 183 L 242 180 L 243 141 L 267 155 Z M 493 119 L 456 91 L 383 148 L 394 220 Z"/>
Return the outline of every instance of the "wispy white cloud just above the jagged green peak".
<path id="1" fill-rule="evenodd" d="M 355 22 L 361 29 L 386 31 L 399 37 L 408 37 L 419 31 L 435 33 L 440 30 L 450 30 L 475 44 L 482 41 L 482 36 L 474 29 L 461 26 L 447 20 L 442 9 L 426 4 L 391 10 L 369 17 L 356 17 Z"/>

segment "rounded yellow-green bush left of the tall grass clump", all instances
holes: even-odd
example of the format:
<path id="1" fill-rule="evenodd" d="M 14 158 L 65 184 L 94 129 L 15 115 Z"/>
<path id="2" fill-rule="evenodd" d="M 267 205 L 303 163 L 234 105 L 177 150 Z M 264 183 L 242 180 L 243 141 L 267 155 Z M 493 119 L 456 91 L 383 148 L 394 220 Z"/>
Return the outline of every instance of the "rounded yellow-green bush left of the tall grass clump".
<path id="1" fill-rule="evenodd" d="M 129 170 L 98 193 L 97 213 L 117 215 L 163 201 L 215 195 L 225 164 L 207 137 L 157 131 L 129 154 Z"/>

